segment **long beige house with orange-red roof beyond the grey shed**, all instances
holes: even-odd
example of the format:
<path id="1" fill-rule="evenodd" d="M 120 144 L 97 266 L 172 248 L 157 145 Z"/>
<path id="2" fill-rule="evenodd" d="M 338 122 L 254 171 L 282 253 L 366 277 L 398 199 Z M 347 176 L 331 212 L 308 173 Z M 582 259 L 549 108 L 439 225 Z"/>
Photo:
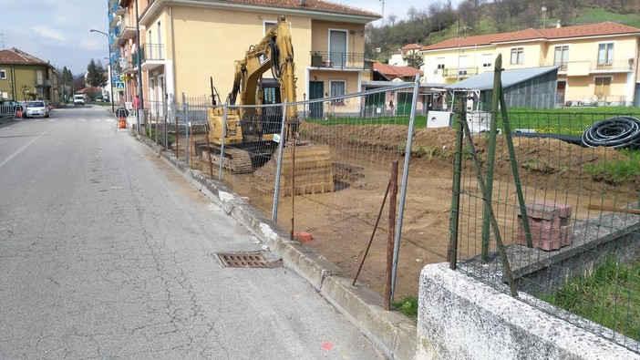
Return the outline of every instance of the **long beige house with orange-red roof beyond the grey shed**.
<path id="1" fill-rule="evenodd" d="M 557 66 L 559 106 L 634 106 L 638 91 L 640 29 L 612 22 L 454 37 L 430 46 L 425 81 L 454 83 L 493 71 L 501 54 L 505 69 Z"/>

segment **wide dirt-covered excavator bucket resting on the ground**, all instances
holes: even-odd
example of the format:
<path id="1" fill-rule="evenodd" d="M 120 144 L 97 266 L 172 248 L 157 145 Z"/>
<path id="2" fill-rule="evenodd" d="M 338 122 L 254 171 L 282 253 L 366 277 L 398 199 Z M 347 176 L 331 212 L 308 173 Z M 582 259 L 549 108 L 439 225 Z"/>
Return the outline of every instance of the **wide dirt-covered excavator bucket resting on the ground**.
<path id="1" fill-rule="evenodd" d="M 279 159 L 278 151 L 274 159 Z M 334 191 L 333 165 L 328 145 L 287 146 L 282 161 L 280 192 L 284 196 Z"/>

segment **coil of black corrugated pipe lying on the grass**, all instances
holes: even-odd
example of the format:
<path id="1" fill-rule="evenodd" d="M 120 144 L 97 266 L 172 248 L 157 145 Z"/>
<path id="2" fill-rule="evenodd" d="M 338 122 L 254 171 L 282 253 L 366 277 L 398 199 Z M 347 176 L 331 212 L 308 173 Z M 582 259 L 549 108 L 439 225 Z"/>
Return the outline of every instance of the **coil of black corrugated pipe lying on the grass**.
<path id="1" fill-rule="evenodd" d="M 640 149 L 640 119 L 622 116 L 600 120 L 584 130 L 583 145 Z"/>

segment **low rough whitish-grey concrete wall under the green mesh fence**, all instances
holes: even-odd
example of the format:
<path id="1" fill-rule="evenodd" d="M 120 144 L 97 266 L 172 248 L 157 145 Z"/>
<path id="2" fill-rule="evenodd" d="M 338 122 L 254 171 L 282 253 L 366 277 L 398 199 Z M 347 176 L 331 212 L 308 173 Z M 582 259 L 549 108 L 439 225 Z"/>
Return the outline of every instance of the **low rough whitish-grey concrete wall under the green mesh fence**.
<path id="1" fill-rule="evenodd" d="M 420 274 L 418 359 L 640 359 L 640 355 L 449 269 Z M 520 296 L 527 296 L 521 293 Z"/>

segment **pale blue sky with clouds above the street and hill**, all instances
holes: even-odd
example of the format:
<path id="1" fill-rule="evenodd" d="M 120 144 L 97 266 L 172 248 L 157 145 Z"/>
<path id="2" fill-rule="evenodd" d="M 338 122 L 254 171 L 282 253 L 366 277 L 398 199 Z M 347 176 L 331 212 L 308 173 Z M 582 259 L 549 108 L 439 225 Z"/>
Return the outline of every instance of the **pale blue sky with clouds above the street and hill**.
<path id="1" fill-rule="evenodd" d="M 436 0 L 444 2 L 445 0 Z M 460 0 L 453 0 L 454 7 Z M 381 0 L 334 0 L 383 15 Z M 407 17 L 410 6 L 426 10 L 435 1 L 385 0 L 384 16 Z M 91 59 L 108 63 L 107 0 L 0 0 L 0 48 L 16 47 L 57 68 L 84 74 Z"/>

